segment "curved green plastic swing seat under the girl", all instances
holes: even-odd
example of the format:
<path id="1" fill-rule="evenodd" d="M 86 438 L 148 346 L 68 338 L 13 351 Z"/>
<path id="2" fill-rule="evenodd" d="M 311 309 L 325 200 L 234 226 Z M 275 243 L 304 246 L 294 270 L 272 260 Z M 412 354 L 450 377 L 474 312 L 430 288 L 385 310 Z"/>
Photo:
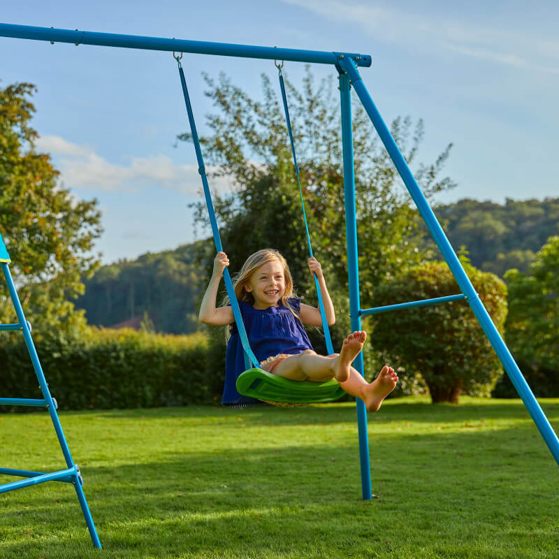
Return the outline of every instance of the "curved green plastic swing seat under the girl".
<path id="1" fill-rule="evenodd" d="M 334 402 L 345 394 L 334 379 L 326 382 L 296 381 L 256 368 L 239 375 L 237 391 L 258 400 L 287 404 Z"/>

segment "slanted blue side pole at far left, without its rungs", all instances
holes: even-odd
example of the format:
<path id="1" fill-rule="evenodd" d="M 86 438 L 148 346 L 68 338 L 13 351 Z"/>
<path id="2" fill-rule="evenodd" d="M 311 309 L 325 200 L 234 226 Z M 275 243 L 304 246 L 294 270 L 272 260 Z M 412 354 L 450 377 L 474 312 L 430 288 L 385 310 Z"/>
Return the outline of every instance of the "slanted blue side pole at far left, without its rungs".
<path id="1" fill-rule="evenodd" d="M 47 409 L 50 414 L 50 419 L 52 419 L 52 424 L 55 426 L 55 431 L 57 433 L 60 448 L 62 449 L 62 453 L 64 454 L 64 460 L 66 460 L 66 465 L 68 466 L 68 468 L 73 467 L 74 461 L 70 453 L 70 449 L 68 448 L 66 437 L 64 437 L 64 431 L 62 430 L 62 426 L 58 418 L 55 402 L 52 399 L 52 396 L 50 395 L 50 390 L 48 388 L 48 384 L 45 379 L 45 375 L 43 373 L 43 368 L 41 367 L 41 362 L 39 361 L 37 351 L 35 349 L 35 344 L 33 343 L 33 338 L 31 337 L 29 324 L 25 319 L 22 305 L 20 303 L 20 298 L 17 296 L 17 291 L 15 289 L 15 285 L 13 283 L 13 279 L 10 274 L 10 268 L 8 268 L 7 263 L 1 263 L 1 268 L 2 268 L 4 278 L 6 279 L 6 284 L 8 285 L 8 291 L 10 292 L 10 297 L 12 299 L 13 307 L 15 309 L 15 314 L 17 315 L 17 320 L 20 322 L 20 325 L 22 327 L 23 337 L 25 340 L 25 344 L 27 346 L 27 351 L 29 351 L 29 357 L 31 357 L 31 363 L 33 364 L 35 375 L 37 377 L 39 386 L 41 387 L 43 398 L 45 398 Z M 89 535 L 91 535 L 92 537 L 92 542 L 95 547 L 101 549 L 101 542 L 99 540 L 99 535 L 97 535 L 97 530 L 95 528 L 92 514 L 89 511 L 87 500 L 85 499 L 85 494 L 82 489 L 81 479 L 78 474 L 75 474 L 74 476 L 73 485 L 75 487 L 75 492 L 78 495 L 78 500 L 80 502 L 80 506 L 82 507 L 82 512 L 85 517 L 85 523 L 87 524 L 87 528 L 89 528 Z"/>

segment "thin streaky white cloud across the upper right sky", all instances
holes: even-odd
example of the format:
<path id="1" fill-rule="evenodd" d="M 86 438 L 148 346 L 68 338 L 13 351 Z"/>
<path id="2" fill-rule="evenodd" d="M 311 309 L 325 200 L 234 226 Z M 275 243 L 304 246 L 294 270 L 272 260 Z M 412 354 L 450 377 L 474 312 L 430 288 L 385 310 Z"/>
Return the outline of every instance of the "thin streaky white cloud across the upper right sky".
<path id="1" fill-rule="evenodd" d="M 451 50 L 488 62 L 558 73 L 559 43 L 524 29 L 501 29 L 465 18 L 441 16 L 432 10 L 403 10 L 340 0 L 284 0 L 328 20 L 350 22 L 379 41 L 408 48 Z"/>

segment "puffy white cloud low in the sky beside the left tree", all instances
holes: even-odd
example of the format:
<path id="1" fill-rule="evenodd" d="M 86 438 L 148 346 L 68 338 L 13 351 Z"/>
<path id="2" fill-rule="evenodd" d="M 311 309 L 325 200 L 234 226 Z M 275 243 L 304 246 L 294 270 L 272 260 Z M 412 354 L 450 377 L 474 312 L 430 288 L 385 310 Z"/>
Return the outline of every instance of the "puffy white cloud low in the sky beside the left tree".
<path id="1" fill-rule="evenodd" d="M 77 145 L 59 136 L 42 136 L 36 146 L 52 154 L 66 187 L 97 191 L 134 192 L 150 189 L 170 189 L 196 195 L 201 188 L 197 165 L 176 164 L 166 155 L 133 157 L 126 165 L 112 164 L 92 148 Z M 211 172 L 208 167 L 208 173 Z M 212 178 L 210 185 L 217 191 L 231 188 L 226 177 Z"/>

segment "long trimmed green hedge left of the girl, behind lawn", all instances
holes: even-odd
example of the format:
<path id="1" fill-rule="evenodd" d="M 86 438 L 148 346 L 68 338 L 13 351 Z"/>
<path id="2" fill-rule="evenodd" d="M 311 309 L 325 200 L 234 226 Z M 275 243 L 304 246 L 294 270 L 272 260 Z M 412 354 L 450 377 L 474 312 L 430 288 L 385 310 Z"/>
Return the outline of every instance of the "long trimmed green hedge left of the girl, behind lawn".
<path id="1" fill-rule="evenodd" d="M 59 409 L 210 403 L 222 391 L 221 375 L 207 373 L 208 341 L 201 334 L 92 330 L 75 340 L 40 340 L 36 349 Z M 41 398 L 20 336 L 0 342 L 0 397 Z"/>

